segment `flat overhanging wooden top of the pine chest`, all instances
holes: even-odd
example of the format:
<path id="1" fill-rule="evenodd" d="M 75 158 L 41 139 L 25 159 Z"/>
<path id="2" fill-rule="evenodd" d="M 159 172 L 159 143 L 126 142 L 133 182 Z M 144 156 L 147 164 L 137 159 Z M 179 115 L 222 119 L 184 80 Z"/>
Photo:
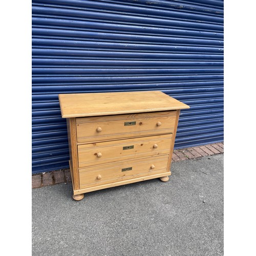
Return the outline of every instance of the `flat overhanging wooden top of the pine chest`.
<path id="1" fill-rule="evenodd" d="M 59 94 L 63 118 L 189 109 L 160 91 Z"/>

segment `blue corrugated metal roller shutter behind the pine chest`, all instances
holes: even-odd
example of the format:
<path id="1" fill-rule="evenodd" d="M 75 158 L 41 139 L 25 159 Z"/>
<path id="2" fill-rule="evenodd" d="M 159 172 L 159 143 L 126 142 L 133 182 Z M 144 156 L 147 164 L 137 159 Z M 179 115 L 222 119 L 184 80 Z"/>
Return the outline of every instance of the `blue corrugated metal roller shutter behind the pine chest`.
<path id="1" fill-rule="evenodd" d="M 32 1 L 32 171 L 68 167 L 58 94 L 162 91 L 175 148 L 223 141 L 223 1 Z"/>

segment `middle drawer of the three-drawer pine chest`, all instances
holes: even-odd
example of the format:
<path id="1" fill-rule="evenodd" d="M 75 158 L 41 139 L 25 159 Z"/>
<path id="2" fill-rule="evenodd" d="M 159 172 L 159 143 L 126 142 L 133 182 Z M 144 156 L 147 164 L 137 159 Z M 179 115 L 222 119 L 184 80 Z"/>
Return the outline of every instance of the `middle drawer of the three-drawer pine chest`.
<path id="1" fill-rule="evenodd" d="M 168 155 L 172 134 L 78 145 L 79 168 L 141 157 Z"/>

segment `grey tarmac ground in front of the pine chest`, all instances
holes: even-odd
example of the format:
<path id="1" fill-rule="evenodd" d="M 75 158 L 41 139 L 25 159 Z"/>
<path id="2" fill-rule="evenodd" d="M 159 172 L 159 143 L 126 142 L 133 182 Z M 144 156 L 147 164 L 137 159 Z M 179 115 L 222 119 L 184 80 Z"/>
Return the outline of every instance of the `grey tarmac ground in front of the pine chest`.
<path id="1" fill-rule="evenodd" d="M 172 163 L 148 180 L 72 199 L 72 184 L 32 189 L 32 255 L 223 255 L 223 154 Z"/>

